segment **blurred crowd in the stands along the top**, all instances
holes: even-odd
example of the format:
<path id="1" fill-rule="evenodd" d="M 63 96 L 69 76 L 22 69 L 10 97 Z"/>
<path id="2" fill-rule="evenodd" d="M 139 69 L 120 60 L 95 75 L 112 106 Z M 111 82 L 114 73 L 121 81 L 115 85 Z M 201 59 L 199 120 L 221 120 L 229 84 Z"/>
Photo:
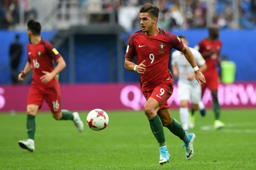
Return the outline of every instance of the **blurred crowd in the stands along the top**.
<path id="1" fill-rule="evenodd" d="M 29 0 L 0 2 L 1 29 L 12 29 L 20 22 L 21 6 L 25 23 L 28 19 L 37 19 L 37 10 L 30 7 Z M 209 18 L 211 24 L 220 28 L 253 29 L 256 25 L 256 0 L 77 0 L 81 7 L 86 4 L 83 11 L 89 13 L 89 23 L 114 21 L 126 30 L 140 28 L 138 11 L 147 2 L 159 7 L 158 26 L 166 30 L 203 28 Z"/>

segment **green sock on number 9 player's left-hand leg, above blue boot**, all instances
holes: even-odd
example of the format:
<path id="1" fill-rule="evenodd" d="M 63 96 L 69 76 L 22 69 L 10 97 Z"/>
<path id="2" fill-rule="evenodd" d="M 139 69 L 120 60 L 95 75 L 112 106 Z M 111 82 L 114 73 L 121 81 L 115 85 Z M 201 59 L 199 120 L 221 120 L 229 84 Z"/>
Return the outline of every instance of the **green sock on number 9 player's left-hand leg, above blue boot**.
<path id="1" fill-rule="evenodd" d="M 163 124 L 160 117 L 158 115 L 155 115 L 155 117 L 149 120 L 149 124 L 156 140 L 159 143 L 159 146 L 166 145 Z"/>

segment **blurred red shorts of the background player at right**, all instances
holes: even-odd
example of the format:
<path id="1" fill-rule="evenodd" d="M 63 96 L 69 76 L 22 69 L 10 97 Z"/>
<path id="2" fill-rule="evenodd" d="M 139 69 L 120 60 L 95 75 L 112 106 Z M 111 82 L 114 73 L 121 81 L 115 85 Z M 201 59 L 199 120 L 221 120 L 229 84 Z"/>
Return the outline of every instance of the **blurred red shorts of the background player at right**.
<path id="1" fill-rule="evenodd" d="M 220 78 L 217 72 L 212 74 L 204 74 L 206 84 L 202 85 L 202 94 L 204 93 L 206 87 L 210 90 L 218 90 L 218 86 L 220 83 Z"/>

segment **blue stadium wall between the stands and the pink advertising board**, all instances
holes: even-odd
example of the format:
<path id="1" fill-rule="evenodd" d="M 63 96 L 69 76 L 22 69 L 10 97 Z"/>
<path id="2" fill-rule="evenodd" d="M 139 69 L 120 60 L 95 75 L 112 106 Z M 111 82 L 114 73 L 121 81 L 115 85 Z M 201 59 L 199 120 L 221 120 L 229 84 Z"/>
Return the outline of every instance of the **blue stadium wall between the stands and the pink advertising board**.
<path id="1" fill-rule="evenodd" d="M 190 47 L 194 47 L 199 40 L 207 37 L 208 35 L 206 29 L 172 30 L 171 32 L 177 35 L 185 35 L 189 41 Z M 20 42 L 24 45 L 19 70 L 24 68 L 27 61 L 27 33 L 25 31 L 1 31 L 0 37 L 2 41 L 0 41 L 0 84 L 9 84 L 11 82 L 8 49 L 9 45 L 14 40 L 15 34 L 17 33 L 20 35 Z M 131 33 L 132 32 L 130 32 L 130 34 Z M 54 34 L 54 31 L 43 32 L 42 37 L 45 40 L 50 40 Z M 124 56 L 128 37 L 120 37 L 122 37 L 124 41 Z M 219 39 L 223 42 L 221 56 L 226 55 L 229 60 L 232 60 L 237 64 L 236 81 L 256 81 L 256 48 L 254 47 L 256 31 L 221 30 Z M 75 83 L 117 82 L 117 42 L 113 35 L 75 35 L 74 40 Z M 61 54 L 63 54 L 67 62 L 67 68 L 62 74 L 68 75 L 68 40 L 60 48 L 58 48 L 58 50 Z M 69 76 L 61 77 L 61 82 L 69 82 Z M 63 79 L 63 77 L 66 78 Z M 124 69 L 123 81 L 136 82 L 138 81 L 138 75 Z"/>

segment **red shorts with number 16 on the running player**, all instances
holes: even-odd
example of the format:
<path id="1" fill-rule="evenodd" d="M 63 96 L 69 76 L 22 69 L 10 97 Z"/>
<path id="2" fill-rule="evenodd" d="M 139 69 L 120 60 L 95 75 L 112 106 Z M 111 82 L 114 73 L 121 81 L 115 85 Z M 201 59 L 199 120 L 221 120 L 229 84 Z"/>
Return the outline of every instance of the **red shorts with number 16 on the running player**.
<path id="1" fill-rule="evenodd" d="M 60 113 L 61 99 L 59 84 L 55 85 L 54 87 L 31 85 L 28 93 L 27 105 L 35 104 L 40 108 L 44 99 L 50 107 L 52 113 Z"/>

